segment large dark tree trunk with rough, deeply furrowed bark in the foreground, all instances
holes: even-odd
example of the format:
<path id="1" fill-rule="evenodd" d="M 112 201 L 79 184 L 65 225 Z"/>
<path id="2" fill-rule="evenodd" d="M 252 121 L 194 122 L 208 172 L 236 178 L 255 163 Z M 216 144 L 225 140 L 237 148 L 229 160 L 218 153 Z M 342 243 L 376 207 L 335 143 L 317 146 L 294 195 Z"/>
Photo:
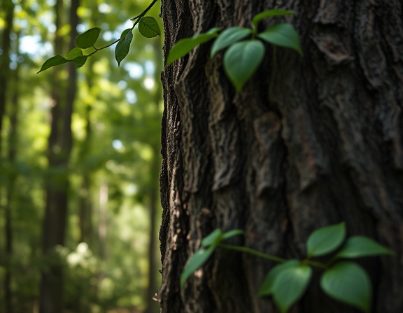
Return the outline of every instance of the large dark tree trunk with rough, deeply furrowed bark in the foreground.
<path id="1" fill-rule="evenodd" d="M 161 312 L 276 312 L 257 291 L 273 263 L 218 250 L 183 290 L 179 277 L 213 229 L 288 259 L 309 234 L 346 221 L 396 252 L 365 259 L 372 312 L 403 312 L 403 22 L 393 1 L 162 1 L 165 57 L 212 27 L 250 27 L 256 13 L 295 10 L 304 50 L 268 46 L 236 94 L 211 44 L 165 68 Z M 265 26 L 273 20 L 267 19 Z M 314 277 L 292 312 L 356 312 Z"/>

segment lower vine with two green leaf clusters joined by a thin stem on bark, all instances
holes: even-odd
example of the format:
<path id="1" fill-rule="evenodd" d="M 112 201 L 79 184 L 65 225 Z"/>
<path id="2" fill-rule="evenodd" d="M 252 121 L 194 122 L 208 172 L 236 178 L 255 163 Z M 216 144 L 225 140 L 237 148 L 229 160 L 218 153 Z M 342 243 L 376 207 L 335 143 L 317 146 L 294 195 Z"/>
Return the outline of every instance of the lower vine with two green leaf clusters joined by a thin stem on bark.
<path id="1" fill-rule="evenodd" d="M 306 242 L 307 257 L 302 261 L 289 260 L 263 254 L 246 247 L 223 244 L 222 241 L 243 233 L 241 230 L 222 233 L 216 229 L 201 240 L 201 247 L 193 254 L 183 270 L 181 286 L 195 270 L 200 268 L 218 247 L 253 254 L 272 261 L 281 262 L 269 270 L 260 286 L 259 296 L 273 296 L 274 303 L 281 313 L 286 313 L 306 291 L 312 276 L 312 267 L 324 270 L 320 286 L 332 298 L 369 312 L 372 287 L 367 272 L 351 261 L 334 263 L 335 259 L 352 259 L 360 256 L 376 256 L 393 252 L 373 240 L 355 236 L 346 243 L 327 263 L 311 260 L 313 256 L 323 256 L 335 252 L 346 237 L 345 223 L 331 225 L 314 231 Z"/>

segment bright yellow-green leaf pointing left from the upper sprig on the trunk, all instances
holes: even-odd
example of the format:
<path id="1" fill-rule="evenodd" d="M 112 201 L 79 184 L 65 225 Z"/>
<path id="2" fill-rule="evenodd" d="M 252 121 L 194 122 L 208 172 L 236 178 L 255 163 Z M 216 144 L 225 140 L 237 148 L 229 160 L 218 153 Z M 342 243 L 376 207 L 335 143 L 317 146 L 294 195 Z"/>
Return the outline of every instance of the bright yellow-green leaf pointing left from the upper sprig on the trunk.
<path id="1" fill-rule="evenodd" d="M 215 27 L 213 29 L 210 29 L 207 33 L 196 34 L 192 38 L 184 38 L 178 41 L 169 51 L 167 66 L 172 64 L 177 59 L 180 59 L 181 57 L 188 54 L 190 51 L 196 48 L 197 45 L 200 45 L 201 43 L 206 43 L 207 41 L 211 41 L 211 39 L 217 37 L 219 31 L 220 28 Z"/>

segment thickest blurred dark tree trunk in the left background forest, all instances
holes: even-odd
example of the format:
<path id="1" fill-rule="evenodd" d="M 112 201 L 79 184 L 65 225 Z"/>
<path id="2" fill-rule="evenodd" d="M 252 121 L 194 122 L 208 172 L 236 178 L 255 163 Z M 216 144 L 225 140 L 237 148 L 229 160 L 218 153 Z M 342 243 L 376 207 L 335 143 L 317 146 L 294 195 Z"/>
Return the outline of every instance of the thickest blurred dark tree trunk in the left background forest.
<path id="1" fill-rule="evenodd" d="M 78 24 L 78 0 L 71 1 L 69 47 L 75 46 Z M 64 38 L 58 34 L 63 26 L 63 0 L 56 1 L 55 53 L 64 52 Z M 69 191 L 69 158 L 73 145 L 71 115 L 76 98 L 76 68 L 68 64 L 68 81 L 61 78 L 63 68 L 55 68 L 52 78 L 52 122 L 48 138 L 48 176 L 45 181 L 46 204 L 43 221 L 43 255 L 47 262 L 42 271 L 40 313 L 55 313 L 63 310 L 63 265 L 57 255 L 57 246 L 64 245 Z M 67 86 L 67 87 L 66 87 Z"/>

